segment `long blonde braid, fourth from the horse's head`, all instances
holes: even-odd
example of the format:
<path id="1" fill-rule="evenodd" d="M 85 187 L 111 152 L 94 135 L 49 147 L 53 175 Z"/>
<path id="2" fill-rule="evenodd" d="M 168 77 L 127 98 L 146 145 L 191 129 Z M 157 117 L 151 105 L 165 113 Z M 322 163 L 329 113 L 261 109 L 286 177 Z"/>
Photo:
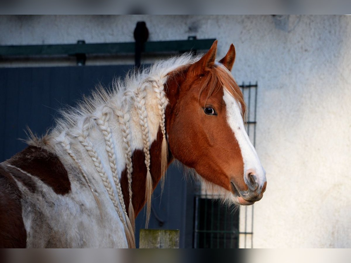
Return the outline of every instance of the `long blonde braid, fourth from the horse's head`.
<path id="1" fill-rule="evenodd" d="M 102 134 L 104 135 L 104 139 L 105 139 L 105 143 L 106 143 L 106 151 L 107 151 L 107 155 L 108 155 L 108 161 L 110 163 L 113 181 L 114 181 L 116 189 L 117 189 L 118 198 L 119 198 L 119 201 L 121 203 L 122 211 L 125 214 L 127 227 L 129 229 L 129 231 L 131 232 L 131 234 L 133 233 L 132 236 L 134 237 L 134 228 L 132 227 L 130 219 L 127 215 L 126 206 L 125 206 L 123 194 L 122 194 L 121 183 L 119 180 L 119 176 L 117 174 L 116 155 L 115 155 L 115 149 L 114 149 L 115 147 L 114 147 L 113 140 L 112 140 L 111 128 L 108 126 L 108 114 L 107 113 L 103 114 L 101 117 L 98 117 L 96 119 L 96 121 L 99 124 L 99 127 L 102 131 Z M 134 241 L 134 247 L 135 247 L 134 238 L 133 238 L 133 241 Z"/>

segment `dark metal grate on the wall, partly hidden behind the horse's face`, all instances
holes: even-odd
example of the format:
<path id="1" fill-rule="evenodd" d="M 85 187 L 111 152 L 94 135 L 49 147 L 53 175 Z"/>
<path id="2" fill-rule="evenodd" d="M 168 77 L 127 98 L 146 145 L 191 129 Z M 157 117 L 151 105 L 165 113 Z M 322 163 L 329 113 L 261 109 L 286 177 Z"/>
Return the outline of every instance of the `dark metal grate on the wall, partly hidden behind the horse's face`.
<path id="1" fill-rule="evenodd" d="M 246 131 L 256 144 L 257 82 L 240 85 L 247 106 Z M 198 185 L 195 190 L 193 248 L 252 248 L 253 205 L 227 207 Z"/>

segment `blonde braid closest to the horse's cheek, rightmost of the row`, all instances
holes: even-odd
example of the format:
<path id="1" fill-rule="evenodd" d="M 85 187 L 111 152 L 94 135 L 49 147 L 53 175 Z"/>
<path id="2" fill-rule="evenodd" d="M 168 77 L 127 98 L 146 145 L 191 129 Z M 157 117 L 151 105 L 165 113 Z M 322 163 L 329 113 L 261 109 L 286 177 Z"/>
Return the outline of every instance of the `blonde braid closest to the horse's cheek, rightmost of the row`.
<path id="1" fill-rule="evenodd" d="M 167 145 L 166 128 L 165 128 L 165 119 L 166 119 L 165 109 L 166 109 L 167 99 L 165 96 L 164 84 L 163 84 L 166 82 L 166 80 L 167 80 L 167 77 L 164 77 L 163 79 L 160 78 L 160 80 L 158 80 L 157 78 L 152 80 L 152 87 L 158 99 L 158 109 L 159 109 L 159 114 L 161 116 L 160 128 L 163 135 L 162 144 L 161 144 L 161 191 L 163 191 L 165 186 L 165 175 L 166 175 L 167 162 L 168 162 L 168 145 Z"/>

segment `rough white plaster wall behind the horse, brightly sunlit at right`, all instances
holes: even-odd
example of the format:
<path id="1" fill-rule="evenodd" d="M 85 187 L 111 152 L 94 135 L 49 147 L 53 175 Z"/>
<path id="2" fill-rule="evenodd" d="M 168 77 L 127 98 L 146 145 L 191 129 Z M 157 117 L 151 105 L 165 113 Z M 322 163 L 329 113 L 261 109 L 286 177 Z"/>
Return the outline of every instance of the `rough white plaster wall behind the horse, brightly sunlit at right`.
<path id="1" fill-rule="evenodd" d="M 0 45 L 133 41 L 139 20 L 153 41 L 217 38 L 218 56 L 233 42 L 234 77 L 259 85 L 256 149 L 268 183 L 253 246 L 351 247 L 351 18 L 289 19 L 291 32 L 269 15 L 0 16 Z M 132 58 L 108 62 L 118 61 Z"/>

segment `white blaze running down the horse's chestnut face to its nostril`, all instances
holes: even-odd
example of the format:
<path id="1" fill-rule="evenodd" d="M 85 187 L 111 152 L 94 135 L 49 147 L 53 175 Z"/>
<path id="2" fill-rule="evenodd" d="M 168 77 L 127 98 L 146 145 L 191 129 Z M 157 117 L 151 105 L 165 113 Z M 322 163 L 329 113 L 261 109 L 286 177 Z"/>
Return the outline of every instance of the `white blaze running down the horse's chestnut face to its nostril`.
<path id="1" fill-rule="evenodd" d="M 229 126 L 232 128 L 234 135 L 239 143 L 241 155 L 244 161 L 244 181 L 245 174 L 247 171 L 255 171 L 256 182 L 259 187 L 262 187 L 264 182 L 266 182 L 266 172 L 263 169 L 255 148 L 253 147 L 249 136 L 247 136 L 244 121 L 241 117 L 241 109 L 239 103 L 234 99 L 234 97 L 224 88 L 224 96 L 227 107 L 227 121 Z"/>

